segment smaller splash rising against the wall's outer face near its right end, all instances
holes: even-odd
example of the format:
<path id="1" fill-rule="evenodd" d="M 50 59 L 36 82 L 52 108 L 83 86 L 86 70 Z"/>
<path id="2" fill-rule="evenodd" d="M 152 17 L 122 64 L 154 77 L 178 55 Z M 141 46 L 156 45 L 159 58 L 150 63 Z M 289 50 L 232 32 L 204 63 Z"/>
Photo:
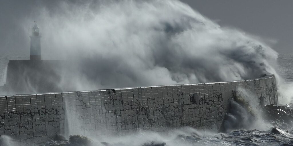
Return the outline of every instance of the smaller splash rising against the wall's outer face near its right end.
<path id="1" fill-rule="evenodd" d="M 244 88 L 238 88 L 231 98 L 221 131 L 228 133 L 234 130 L 268 130 L 272 126 L 263 120 L 263 103 L 259 97 Z"/>

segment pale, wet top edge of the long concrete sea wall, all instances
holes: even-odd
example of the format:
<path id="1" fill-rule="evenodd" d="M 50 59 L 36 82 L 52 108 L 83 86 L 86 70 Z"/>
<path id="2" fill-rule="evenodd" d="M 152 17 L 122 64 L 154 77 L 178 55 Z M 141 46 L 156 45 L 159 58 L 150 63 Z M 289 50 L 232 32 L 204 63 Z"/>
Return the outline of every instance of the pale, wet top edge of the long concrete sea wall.
<path id="1" fill-rule="evenodd" d="M 127 89 L 136 89 L 136 88 L 155 88 L 155 87 L 171 87 L 171 86 L 190 86 L 190 85 L 206 85 L 206 84 L 220 84 L 220 83 L 235 83 L 235 82 L 246 82 L 246 81 L 254 81 L 260 79 L 269 79 L 275 77 L 274 74 L 265 74 L 263 77 L 255 78 L 255 79 L 246 79 L 246 80 L 238 80 L 238 81 L 222 81 L 222 82 L 209 82 L 209 83 L 197 83 L 197 84 L 176 84 L 176 85 L 159 85 L 159 86 L 145 86 L 145 87 L 125 87 L 125 88 L 113 88 L 113 89 L 99 89 L 99 90 L 85 90 L 85 91 L 70 91 L 70 92 L 51 92 L 51 93 L 38 93 L 38 94 L 18 94 L 18 95 L 0 95 L 0 98 L 6 98 L 11 96 L 30 96 L 30 95 L 48 95 L 48 94 L 69 94 L 76 92 L 97 92 L 97 91 L 109 91 L 109 90 L 127 90 Z"/>

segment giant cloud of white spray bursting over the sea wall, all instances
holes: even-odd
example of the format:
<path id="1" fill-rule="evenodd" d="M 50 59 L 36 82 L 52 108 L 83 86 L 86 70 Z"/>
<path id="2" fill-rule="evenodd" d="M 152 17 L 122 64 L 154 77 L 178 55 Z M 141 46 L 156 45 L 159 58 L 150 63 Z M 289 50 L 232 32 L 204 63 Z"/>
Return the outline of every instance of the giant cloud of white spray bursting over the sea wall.
<path id="1" fill-rule="evenodd" d="M 69 60 L 57 69 L 60 91 L 276 74 L 277 53 L 268 45 L 177 0 L 60 1 L 54 11 L 35 11 L 46 24 L 43 57 Z"/>

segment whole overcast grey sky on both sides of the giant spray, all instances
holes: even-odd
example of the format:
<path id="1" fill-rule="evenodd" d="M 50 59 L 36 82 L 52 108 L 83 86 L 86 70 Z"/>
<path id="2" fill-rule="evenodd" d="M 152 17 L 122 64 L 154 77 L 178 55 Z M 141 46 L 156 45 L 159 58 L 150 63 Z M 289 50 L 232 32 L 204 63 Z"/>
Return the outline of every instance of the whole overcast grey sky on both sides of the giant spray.
<path id="1" fill-rule="evenodd" d="M 279 53 L 293 51 L 292 0 L 181 1 L 221 26 L 232 26 L 269 40 L 268 44 Z M 40 6 L 52 11 L 58 8 L 56 1 L 0 1 L 0 51 L 29 51 L 28 34 L 23 29 L 25 25 L 18 23 L 32 22 L 30 19 L 38 15 L 34 7 Z"/>

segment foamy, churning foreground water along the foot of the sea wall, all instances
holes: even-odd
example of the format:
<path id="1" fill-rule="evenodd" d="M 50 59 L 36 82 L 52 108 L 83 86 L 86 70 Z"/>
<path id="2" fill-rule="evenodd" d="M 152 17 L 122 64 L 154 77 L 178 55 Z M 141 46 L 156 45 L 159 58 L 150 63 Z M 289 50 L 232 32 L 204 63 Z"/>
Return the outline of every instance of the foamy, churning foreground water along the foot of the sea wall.
<path id="1" fill-rule="evenodd" d="M 209 133 L 185 128 L 182 131 L 172 131 L 167 134 L 136 133 L 136 135 L 108 139 L 88 139 L 87 146 L 227 146 L 227 145 L 293 145 L 292 131 L 271 128 L 267 131 L 237 130 L 230 133 Z M 51 140 L 41 146 L 75 146 L 65 140 Z M 79 145 L 83 145 L 79 143 Z M 76 145 L 77 146 L 77 145 Z"/>

